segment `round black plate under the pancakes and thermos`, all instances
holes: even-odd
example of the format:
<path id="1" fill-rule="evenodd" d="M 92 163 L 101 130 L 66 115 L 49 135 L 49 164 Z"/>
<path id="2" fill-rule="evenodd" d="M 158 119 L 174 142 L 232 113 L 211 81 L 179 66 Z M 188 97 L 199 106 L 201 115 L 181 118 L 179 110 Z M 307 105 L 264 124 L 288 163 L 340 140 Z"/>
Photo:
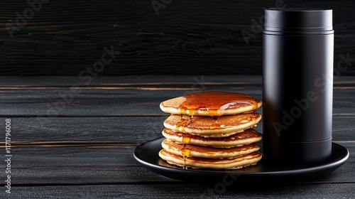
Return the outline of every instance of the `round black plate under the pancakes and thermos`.
<path id="1" fill-rule="evenodd" d="M 149 170 L 168 178 L 180 181 L 198 181 L 198 182 L 238 182 L 246 183 L 248 181 L 255 183 L 277 180 L 284 181 L 302 181 L 308 178 L 315 178 L 326 173 L 332 172 L 342 166 L 349 158 L 349 151 L 336 143 L 332 143 L 332 155 L 326 163 L 310 167 L 280 167 L 271 166 L 263 162 L 258 165 L 239 170 L 208 170 L 208 169 L 183 169 L 173 166 L 158 156 L 162 149 L 161 142 L 165 138 L 154 139 L 136 147 L 133 152 L 134 158 Z"/>

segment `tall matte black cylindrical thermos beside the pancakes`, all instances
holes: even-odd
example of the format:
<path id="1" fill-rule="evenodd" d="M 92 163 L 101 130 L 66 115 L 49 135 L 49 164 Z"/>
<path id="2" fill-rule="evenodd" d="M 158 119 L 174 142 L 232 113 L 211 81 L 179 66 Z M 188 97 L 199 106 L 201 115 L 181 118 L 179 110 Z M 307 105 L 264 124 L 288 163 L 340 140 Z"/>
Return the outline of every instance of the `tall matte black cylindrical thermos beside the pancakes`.
<path id="1" fill-rule="evenodd" d="M 263 157 L 307 166 L 332 153 L 331 9 L 266 9 Z"/>

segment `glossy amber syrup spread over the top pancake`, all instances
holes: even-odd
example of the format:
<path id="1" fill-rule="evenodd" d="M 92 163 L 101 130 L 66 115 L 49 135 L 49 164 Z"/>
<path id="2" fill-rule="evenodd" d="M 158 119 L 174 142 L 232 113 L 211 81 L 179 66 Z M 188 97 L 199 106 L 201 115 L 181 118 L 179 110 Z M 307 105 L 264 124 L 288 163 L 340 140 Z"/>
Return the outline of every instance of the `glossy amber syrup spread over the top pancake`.
<path id="1" fill-rule="evenodd" d="M 180 114 L 196 115 L 197 112 L 207 111 L 209 116 L 221 116 L 232 106 L 251 106 L 258 109 L 258 99 L 238 92 L 209 91 L 184 95 L 185 101 L 179 105 Z"/>

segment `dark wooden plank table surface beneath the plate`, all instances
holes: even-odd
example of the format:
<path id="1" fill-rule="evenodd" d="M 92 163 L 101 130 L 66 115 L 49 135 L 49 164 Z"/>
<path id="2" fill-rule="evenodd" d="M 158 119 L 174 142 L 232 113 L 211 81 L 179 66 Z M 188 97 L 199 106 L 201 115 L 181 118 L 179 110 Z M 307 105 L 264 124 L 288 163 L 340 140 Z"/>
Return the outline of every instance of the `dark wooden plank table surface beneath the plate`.
<path id="1" fill-rule="evenodd" d="M 11 119 L 13 198 L 355 198 L 355 77 L 334 77 L 333 141 L 349 150 L 337 170 L 307 181 L 189 183 L 141 166 L 133 150 L 162 137 L 160 102 L 226 90 L 261 99 L 261 76 L 0 77 L 1 148 Z M 260 110 L 262 111 L 262 110 Z M 261 131 L 261 122 L 256 130 Z"/>

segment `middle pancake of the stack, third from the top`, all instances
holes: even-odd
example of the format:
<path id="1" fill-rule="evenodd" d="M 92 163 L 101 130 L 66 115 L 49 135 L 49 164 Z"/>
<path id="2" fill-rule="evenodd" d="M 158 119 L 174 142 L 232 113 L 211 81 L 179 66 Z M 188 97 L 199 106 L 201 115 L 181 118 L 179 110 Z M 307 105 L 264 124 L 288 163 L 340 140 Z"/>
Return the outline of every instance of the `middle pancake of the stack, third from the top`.
<path id="1" fill-rule="evenodd" d="M 245 129 L 242 132 L 221 138 L 207 138 L 192 134 L 184 134 L 171 129 L 164 129 L 163 136 L 170 141 L 180 144 L 195 144 L 200 146 L 211 146 L 216 148 L 231 148 L 261 141 L 262 134 L 254 129 Z"/>

